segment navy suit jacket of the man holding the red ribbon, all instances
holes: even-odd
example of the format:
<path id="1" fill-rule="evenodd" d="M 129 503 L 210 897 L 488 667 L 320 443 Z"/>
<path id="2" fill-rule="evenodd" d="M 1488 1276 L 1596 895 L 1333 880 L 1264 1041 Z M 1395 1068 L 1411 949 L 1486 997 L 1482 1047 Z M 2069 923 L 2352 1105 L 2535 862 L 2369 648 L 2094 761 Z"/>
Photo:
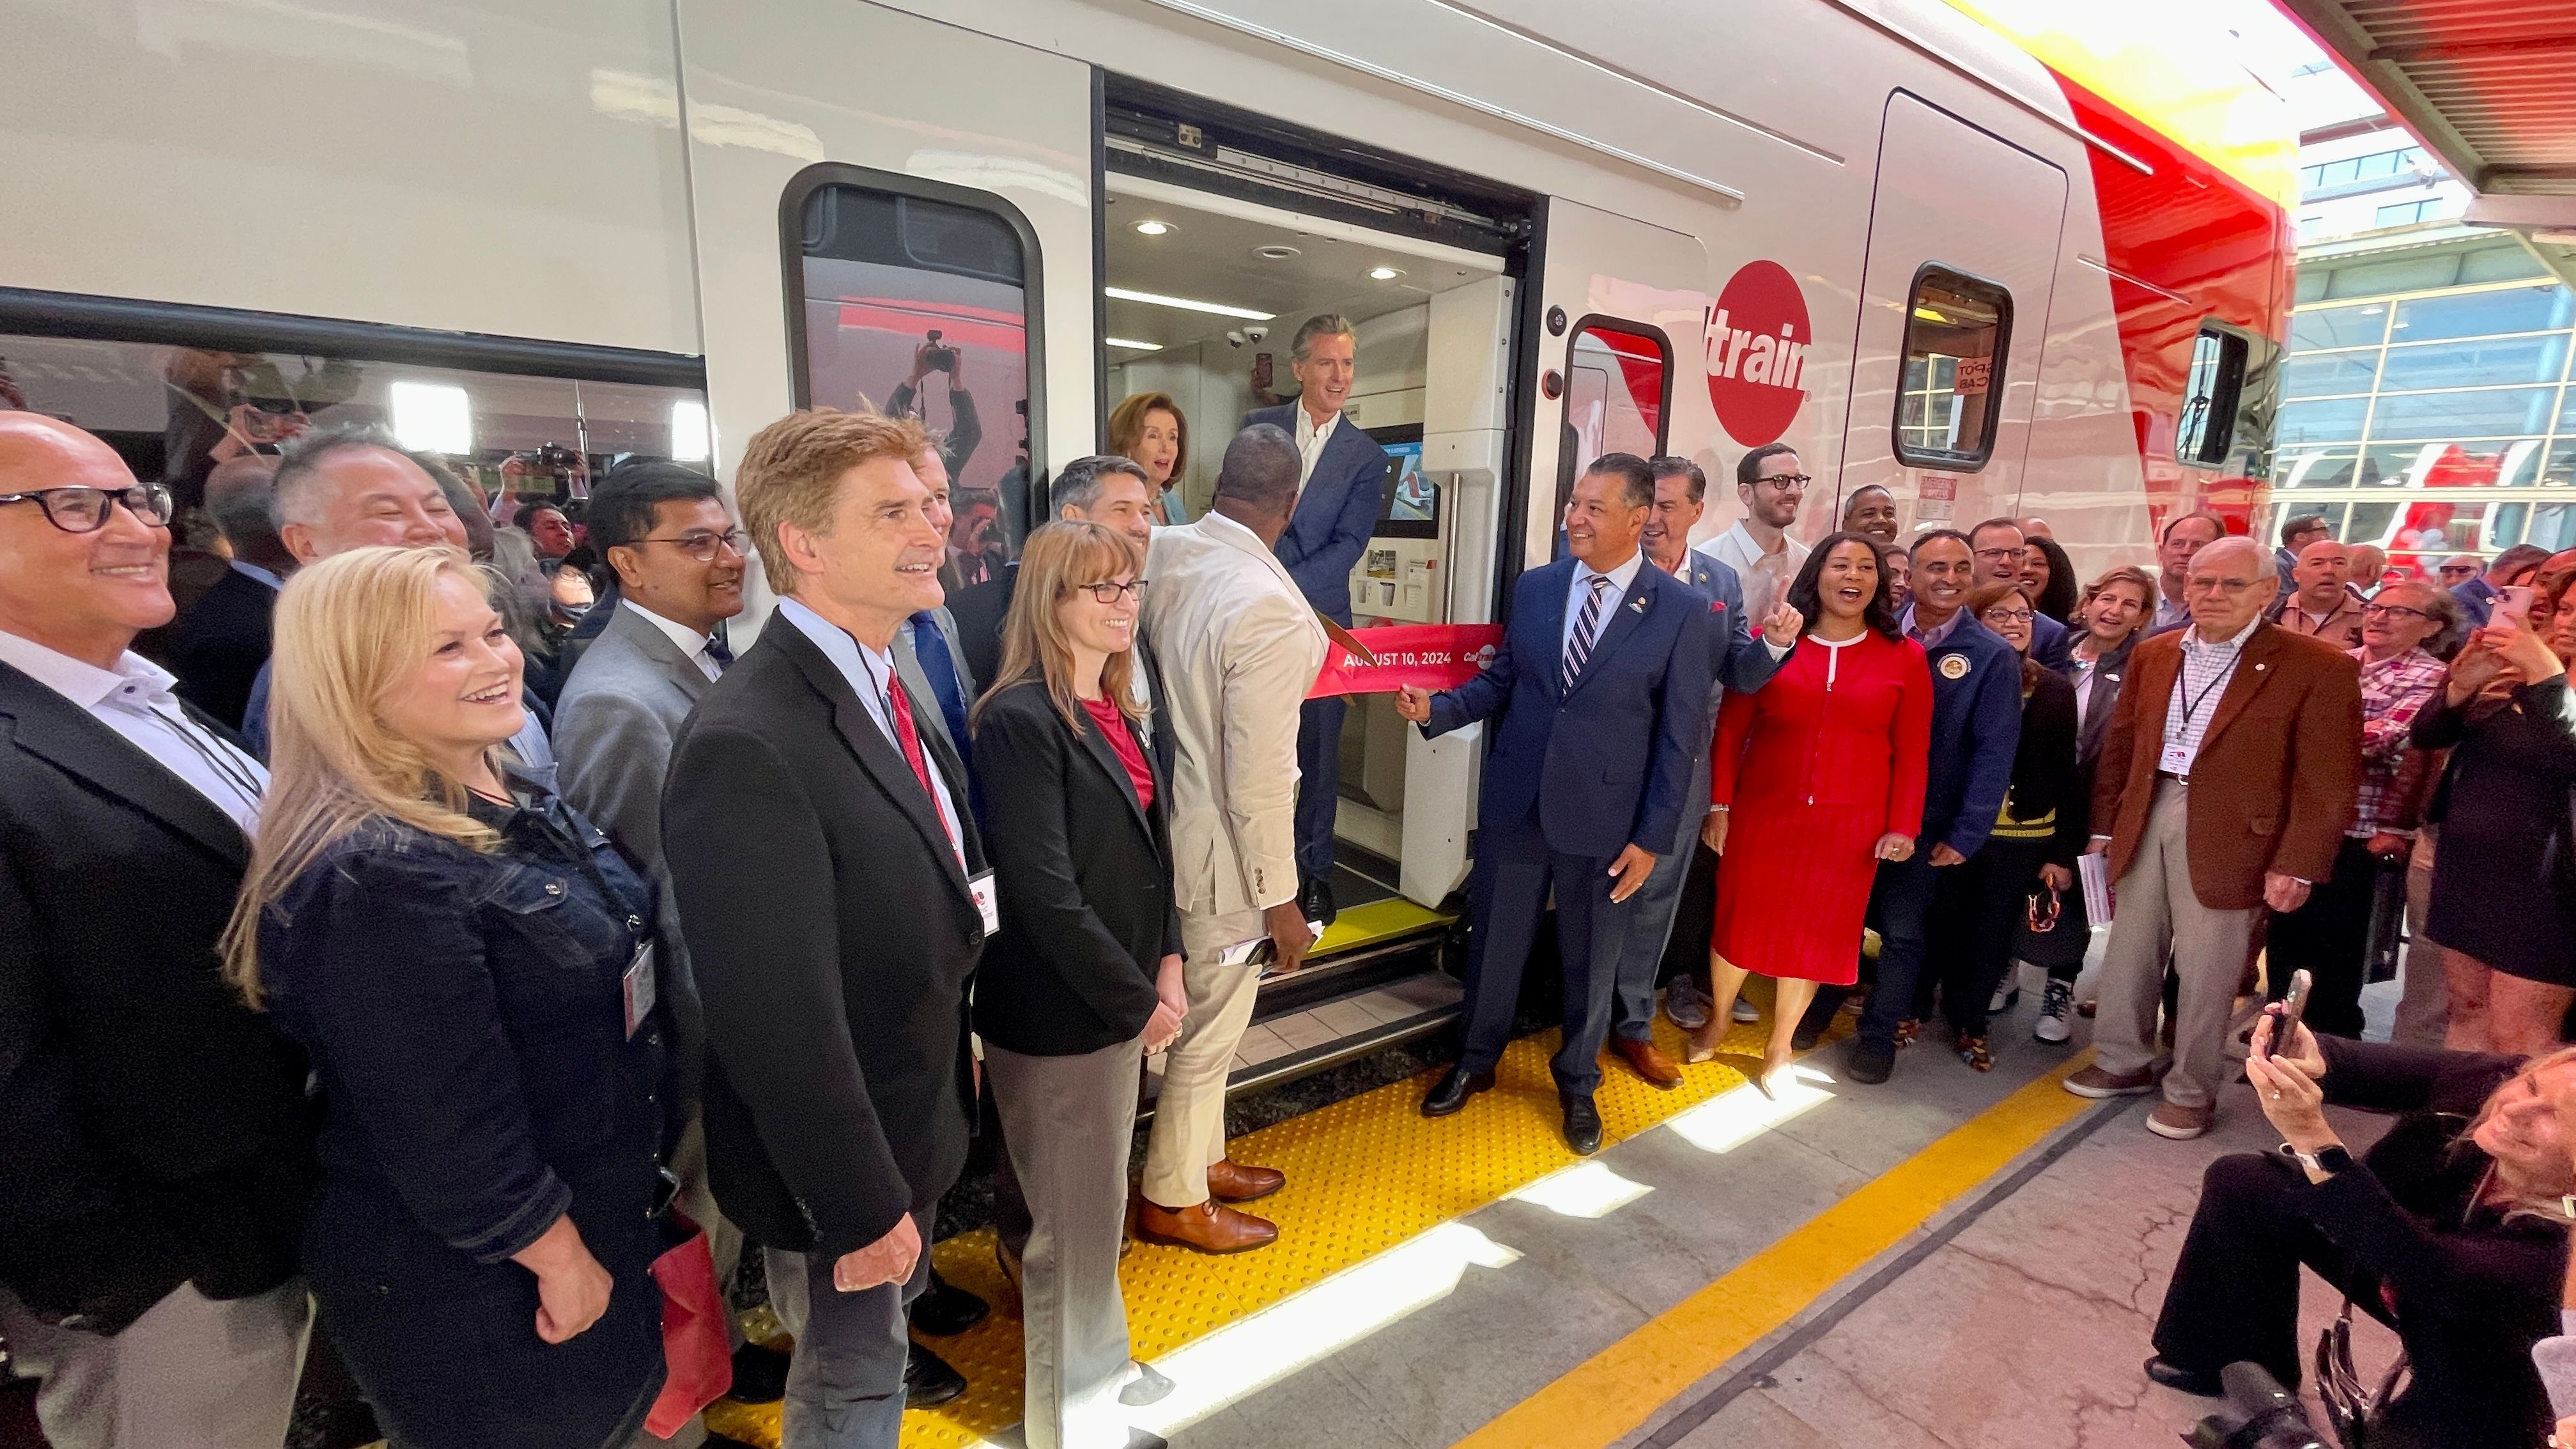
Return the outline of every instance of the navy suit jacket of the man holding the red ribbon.
<path id="1" fill-rule="evenodd" d="M 1535 804 L 1551 851 L 1669 853 L 1682 810 L 1692 807 L 1690 768 L 1708 748 L 1708 598 L 1643 565 L 1566 691 L 1558 676 L 1569 588 L 1574 559 L 1520 575 L 1494 663 L 1435 694 L 1422 735 L 1502 714 L 1479 799 L 1489 828 L 1512 825 Z M 2009 773 L 2009 748 L 2004 766 Z M 1994 812 L 1986 815 L 1991 822 Z"/>

